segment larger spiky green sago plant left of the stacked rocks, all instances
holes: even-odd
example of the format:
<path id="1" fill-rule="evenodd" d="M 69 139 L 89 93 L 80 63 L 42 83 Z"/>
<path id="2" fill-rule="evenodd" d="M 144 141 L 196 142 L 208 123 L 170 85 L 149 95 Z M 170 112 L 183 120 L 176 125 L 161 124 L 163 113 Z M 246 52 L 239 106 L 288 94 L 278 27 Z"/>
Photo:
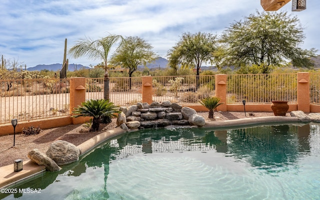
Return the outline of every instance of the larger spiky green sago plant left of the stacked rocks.
<path id="1" fill-rule="evenodd" d="M 79 116 L 91 116 L 92 124 L 89 131 L 97 131 L 99 129 L 101 117 L 115 116 L 115 113 L 119 113 L 117 106 L 113 102 L 105 99 L 90 99 L 81 103 L 81 105 L 73 108 L 72 117 Z"/>

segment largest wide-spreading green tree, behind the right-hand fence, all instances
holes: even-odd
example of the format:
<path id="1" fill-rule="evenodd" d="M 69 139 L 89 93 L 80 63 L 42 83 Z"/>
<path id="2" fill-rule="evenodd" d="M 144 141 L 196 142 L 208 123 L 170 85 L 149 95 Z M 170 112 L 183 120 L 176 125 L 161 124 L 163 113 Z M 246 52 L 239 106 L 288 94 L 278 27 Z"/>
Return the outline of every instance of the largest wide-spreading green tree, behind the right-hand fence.
<path id="1" fill-rule="evenodd" d="M 270 65 L 279 66 L 291 60 L 293 66 L 312 67 L 310 56 L 315 49 L 299 47 L 305 38 L 296 16 L 287 12 L 258 12 L 231 23 L 221 35 L 226 47 L 225 63 L 240 66 L 256 64 L 263 73 L 270 72 Z"/>

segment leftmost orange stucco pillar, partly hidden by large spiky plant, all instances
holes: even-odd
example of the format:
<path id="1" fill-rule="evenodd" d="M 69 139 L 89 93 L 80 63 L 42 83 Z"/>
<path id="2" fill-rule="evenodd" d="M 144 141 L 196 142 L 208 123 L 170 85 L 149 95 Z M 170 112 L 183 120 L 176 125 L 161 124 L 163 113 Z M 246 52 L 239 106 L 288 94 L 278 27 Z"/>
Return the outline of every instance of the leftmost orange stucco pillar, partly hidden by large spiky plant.
<path id="1" fill-rule="evenodd" d="M 74 77 L 70 81 L 70 114 L 74 107 L 81 105 L 85 101 L 85 78 L 83 77 Z M 84 123 L 84 117 L 72 117 L 72 123 Z"/>

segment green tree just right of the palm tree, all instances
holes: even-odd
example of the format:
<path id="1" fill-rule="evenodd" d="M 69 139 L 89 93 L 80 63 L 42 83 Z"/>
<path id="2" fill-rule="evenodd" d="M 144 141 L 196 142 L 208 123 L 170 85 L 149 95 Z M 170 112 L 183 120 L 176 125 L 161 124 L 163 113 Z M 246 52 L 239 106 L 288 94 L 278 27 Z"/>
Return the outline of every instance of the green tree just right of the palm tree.
<path id="1" fill-rule="evenodd" d="M 138 36 L 128 36 L 125 38 L 125 43 L 113 53 L 110 63 L 128 68 L 129 77 L 132 77 L 138 65 L 145 66 L 147 62 L 154 60 L 155 53 L 152 48 L 146 40 Z M 131 89 L 131 78 L 129 78 L 129 89 Z"/>

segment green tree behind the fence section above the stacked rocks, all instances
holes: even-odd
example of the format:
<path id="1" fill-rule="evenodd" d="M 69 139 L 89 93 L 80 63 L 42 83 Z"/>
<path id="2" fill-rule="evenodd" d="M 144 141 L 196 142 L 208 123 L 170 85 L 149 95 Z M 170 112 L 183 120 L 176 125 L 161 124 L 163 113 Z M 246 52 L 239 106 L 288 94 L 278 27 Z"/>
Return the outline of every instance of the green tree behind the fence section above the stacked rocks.
<path id="1" fill-rule="evenodd" d="M 199 70 L 203 62 L 213 61 L 212 52 L 216 47 L 216 36 L 211 33 L 183 33 L 180 40 L 167 53 L 168 65 L 178 69 L 183 67 L 196 66 L 196 87 L 199 86 Z"/>

